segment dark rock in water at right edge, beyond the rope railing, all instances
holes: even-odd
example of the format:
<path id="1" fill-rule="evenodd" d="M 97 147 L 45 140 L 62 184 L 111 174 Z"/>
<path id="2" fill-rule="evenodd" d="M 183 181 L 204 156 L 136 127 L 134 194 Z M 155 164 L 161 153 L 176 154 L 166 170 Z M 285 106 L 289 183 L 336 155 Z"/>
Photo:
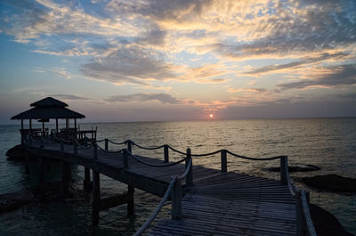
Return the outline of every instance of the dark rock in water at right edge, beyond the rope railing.
<path id="1" fill-rule="evenodd" d="M 356 192 L 356 179 L 340 175 L 316 175 L 313 177 L 298 178 L 306 185 L 320 191 Z"/>

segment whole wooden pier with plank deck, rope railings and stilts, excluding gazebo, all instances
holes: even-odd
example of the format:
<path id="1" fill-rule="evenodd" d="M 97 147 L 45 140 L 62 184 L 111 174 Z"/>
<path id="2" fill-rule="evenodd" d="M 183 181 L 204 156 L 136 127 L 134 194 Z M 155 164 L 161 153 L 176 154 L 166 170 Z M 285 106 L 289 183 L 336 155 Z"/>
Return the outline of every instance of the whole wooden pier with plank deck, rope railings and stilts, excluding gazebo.
<path id="1" fill-rule="evenodd" d="M 104 142 L 104 147 L 99 142 Z M 109 151 L 109 144 L 124 142 L 105 139 L 82 145 L 58 137 L 30 136 L 25 140 L 28 152 L 36 154 L 39 159 L 63 161 L 63 182 L 70 179 L 70 164 L 85 167 L 85 188 L 90 188 L 93 182 L 93 224 L 99 223 L 101 210 L 117 205 L 127 204 L 128 214 L 133 214 L 134 188 L 137 188 L 163 199 L 135 235 L 149 227 L 167 199 L 172 202 L 171 218 L 158 222 L 148 235 L 315 235 L 311 233 L 308 199 L 303 191 L 295 194 L 295 187 L 289 181 L 287 157 L 271 158 L 280 159 L 281 180 L 276 181 L 228 172 L 227 154 L 251 160 L 269 159 L 247 158 L 226 150 L 193 155 L 190 149 L 176 151 L 168 145 L 144 148 L 132 141 L 126 141 L 123 150 Z M 148 150 L 162 148 L 164 159 L 133 155 L 133 145 Z M 185 158 L 170 162 L 169 150 L 181 153 Z M 217 153 L 221 153 L 221 170 L 193 165 L 194 156 Z M 44 171 L 44 168 L 40 169 Z M 101 199 L 99 174 L 126 183 L 127 192 Z"/>

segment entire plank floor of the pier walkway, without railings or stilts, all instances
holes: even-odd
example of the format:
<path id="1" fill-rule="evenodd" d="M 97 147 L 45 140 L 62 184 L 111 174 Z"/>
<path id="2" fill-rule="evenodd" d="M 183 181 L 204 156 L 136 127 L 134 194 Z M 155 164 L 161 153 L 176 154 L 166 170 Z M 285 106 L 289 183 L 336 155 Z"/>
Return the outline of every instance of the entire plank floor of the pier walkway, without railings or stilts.
<path id="1" fill-rule="evenodd" d="M 32 152 L 39 151 L 34 143 Z M 44 143 L 41 155 L 62 159 L 93 169 L 143 191 L 163 196 L 171 176 L 182 175 L 184 164 L 172 167 L 148 167 L 135 159 L 123 166 L 121 153 L 77 149 L 72 145 Z M 138 158 L 152 164 L 163 160 Z M 263 177 L 222 173 L 193 165 L 194 185 L 186 187 L 182 199 L 182 220 L 163 219 L 148 235 L 295 235 L 295 199 L 287 185 Z"/>

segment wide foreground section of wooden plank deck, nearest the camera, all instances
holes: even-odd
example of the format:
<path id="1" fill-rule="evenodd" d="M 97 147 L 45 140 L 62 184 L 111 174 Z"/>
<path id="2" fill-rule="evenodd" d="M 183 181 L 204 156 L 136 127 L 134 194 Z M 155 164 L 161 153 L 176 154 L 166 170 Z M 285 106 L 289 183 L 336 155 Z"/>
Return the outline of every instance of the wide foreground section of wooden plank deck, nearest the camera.
<path id="1" fill-rule="evenodd" d="M 187 191 L 182 220 L 164 219 L 148 235 L 295 235 L 295 200 L 278 181 L 221 174 Z"/>

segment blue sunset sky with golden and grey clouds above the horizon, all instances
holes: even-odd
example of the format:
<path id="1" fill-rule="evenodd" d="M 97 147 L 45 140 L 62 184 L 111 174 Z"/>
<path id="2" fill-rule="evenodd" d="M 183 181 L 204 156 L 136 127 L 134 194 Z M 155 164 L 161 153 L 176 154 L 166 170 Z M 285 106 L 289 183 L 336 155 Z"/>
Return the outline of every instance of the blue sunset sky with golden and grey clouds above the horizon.
<path id="1" fill-rule="evenodd" d="M 47 96 L 86 122 L 356 116 L 355 12 L 354 0 L 2 0 L 0 124 Z"/>

